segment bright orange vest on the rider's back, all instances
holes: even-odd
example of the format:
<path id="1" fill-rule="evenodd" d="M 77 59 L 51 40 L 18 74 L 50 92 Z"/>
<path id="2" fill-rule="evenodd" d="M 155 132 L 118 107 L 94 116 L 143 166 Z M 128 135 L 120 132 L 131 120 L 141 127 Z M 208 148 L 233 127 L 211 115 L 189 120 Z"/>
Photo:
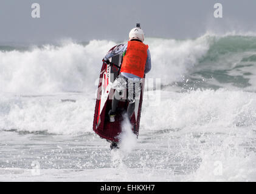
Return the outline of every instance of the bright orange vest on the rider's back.
<path id="1" fill-rule="evenodd" d="M 128 41 L 125 56 L 123 57 L 121 72 L 144 77 L 144 70 L 147 61 L 148 45 L 139 41 Z"/>

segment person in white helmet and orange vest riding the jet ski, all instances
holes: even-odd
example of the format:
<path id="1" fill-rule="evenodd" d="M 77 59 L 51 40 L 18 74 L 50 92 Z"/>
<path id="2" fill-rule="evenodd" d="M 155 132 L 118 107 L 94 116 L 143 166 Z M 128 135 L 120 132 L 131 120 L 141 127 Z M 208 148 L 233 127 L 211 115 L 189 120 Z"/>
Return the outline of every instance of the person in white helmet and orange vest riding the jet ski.
<path id="1" fill-rule="evenodd" d="M 135 100 L 139 99 L 140 90 L 142 89 L 142 78 L 144 78 L 144 73 L 148 73 L 151 70 L 150 50 L 148 45 L 143 42 L 144 32 L 140 28 L 140 24 L 137 24 L 136 28 L 131 29 L 129 33 L 128 43 L 114 48 L 103 59 L 106 63 L 109 63 L 108 59 L 112 56 L 123 55 L 120 74 L 112 85 L 112 88 L 116 89 L 116 91 L 112 100 L 112 109 L 108 113 L 110 122 L 115 121 L 117 104 L 125 89 L 128 89 L 127 100 L 129 102 L 126 113 L 129 119 L 133 115 Z"/>

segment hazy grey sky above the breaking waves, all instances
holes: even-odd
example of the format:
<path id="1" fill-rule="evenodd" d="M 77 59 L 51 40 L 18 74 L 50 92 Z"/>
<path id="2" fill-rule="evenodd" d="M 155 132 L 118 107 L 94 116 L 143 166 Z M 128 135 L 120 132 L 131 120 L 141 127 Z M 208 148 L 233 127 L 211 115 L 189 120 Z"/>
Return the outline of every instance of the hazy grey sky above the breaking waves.
<path id="1" fill-rule="evenodd" d="M 32 3 L 41 18 L 32 18 Z M 213 5 L 223 4 L 223 18 Z M 196 38 L 207 30 L 256 30 L 255 0 L 1 0 L 0 42 L 123 41 L 136 22 L 147 36 Z"/>

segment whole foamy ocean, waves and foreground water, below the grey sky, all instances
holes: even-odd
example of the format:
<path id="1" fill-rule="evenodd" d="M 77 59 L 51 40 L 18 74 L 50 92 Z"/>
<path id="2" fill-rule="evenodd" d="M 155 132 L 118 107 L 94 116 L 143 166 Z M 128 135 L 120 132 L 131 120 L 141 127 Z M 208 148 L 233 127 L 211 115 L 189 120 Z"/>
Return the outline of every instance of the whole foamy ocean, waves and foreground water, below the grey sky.
<path id="1" fill-rule="evenodd" d="M 92 121 L 117 43 L 0 45 L 0 181 L 256 181 L 256 36 L 147 38 L 161 90 L 111 151 Z"/>

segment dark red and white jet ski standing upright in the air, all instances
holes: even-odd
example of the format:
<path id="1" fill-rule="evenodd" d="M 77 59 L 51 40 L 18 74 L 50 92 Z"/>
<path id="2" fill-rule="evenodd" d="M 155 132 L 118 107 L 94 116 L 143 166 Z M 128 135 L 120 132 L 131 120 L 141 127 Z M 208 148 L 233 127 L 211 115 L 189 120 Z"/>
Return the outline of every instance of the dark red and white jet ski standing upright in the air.
<path id="1" fill-rule="evenodd" d="M 115 47 L 118 47 L 119 45 L 116 45 Z M 108 112 L 111 110 L 112 99 L 114 96 L 114 89 L 112 89 L 111 86 L 120 73 L 122 55 L 113 56 L 109 59 L 109 61 L 111 61 L 109 64 L 106 64 L 106 62 L 103 61 L 102 70 L 100 71 L 100 80 L 94 111 L 93 130 L 101 138 L 107 139 L 107 141 L 118 143 L 119 134 L 122 132 L 121 123 L 123 121 L 123 113 L 126 112 L 128 102 L 126 99 L 120 99 L 119 104 L 117 105 L 115 121 L 109 122 Z M 133 125 L 132 130 L 137 136 L 139 135 L 140 112 L 142 107 L 143 92 L 144 79 L 142 82 L 140 98 L 136 99 L 135 110 L 131 117 L 131 124 Z M 126 94 L 127 92 L 124 96 L 126 96 Z"/>

